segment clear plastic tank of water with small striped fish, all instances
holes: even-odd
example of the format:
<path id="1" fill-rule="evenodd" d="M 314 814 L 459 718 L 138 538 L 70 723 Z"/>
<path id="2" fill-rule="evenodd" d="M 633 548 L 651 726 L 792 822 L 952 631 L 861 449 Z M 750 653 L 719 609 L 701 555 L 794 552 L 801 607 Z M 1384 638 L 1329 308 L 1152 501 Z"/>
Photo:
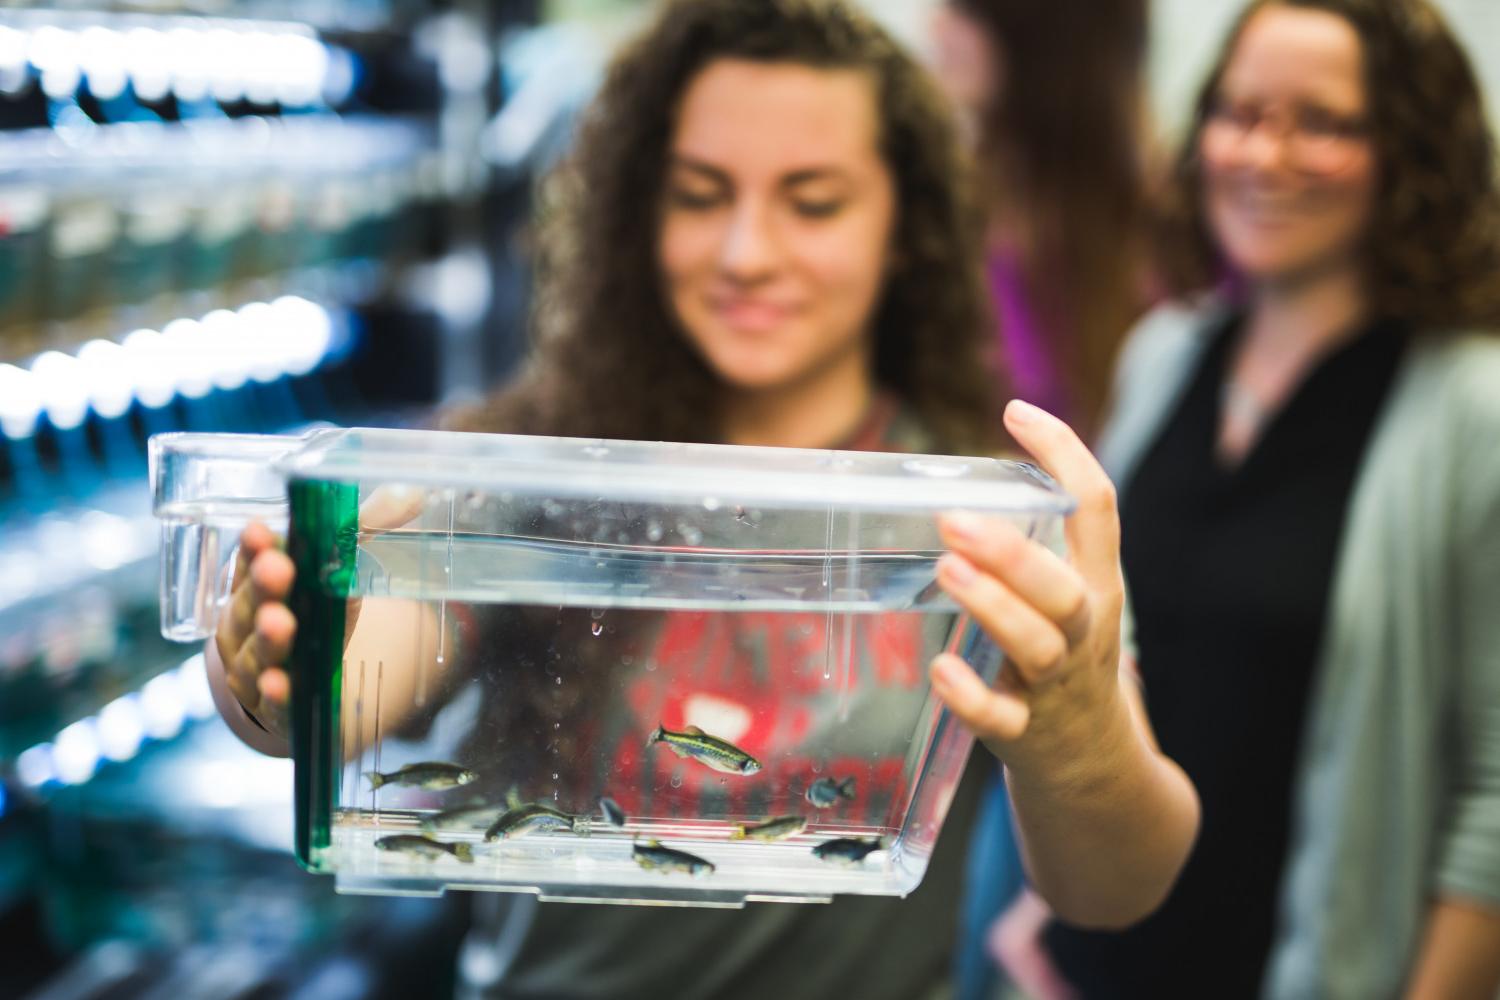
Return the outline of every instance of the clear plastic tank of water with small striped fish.
<path id="1" fill-rule="evenodd" d="M 936 516 L 1071 510 L 994 459 L 417 430 L 164 435 L 152 478 L 171 639 L 285 532 L 304 868 L 720 907 L 916 888 L 974 744 L 927 663 L 1000 667 Z"/>

